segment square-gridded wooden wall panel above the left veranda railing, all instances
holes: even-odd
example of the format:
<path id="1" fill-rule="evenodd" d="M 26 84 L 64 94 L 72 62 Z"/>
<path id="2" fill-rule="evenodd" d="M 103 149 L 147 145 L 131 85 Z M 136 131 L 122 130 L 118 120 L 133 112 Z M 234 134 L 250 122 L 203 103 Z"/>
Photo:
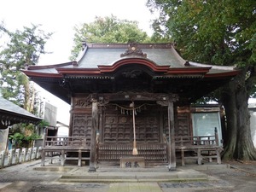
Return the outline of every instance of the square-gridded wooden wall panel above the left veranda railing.
<path id="1" fill-rule="evenodd" d="M 91 115 L 85 113 L 73 114 L 73 137 L 90 137 Z"/>

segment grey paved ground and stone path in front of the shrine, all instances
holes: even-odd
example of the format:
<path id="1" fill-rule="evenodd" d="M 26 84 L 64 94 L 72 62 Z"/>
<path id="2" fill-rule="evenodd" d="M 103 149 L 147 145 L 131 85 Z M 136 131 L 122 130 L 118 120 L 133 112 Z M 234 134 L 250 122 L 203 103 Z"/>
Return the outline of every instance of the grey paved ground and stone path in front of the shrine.
<path id="1" fill-rule="evenodd" d="M 232 168 L 235 166 L 238 168 Z M 254 192 L 256 164 L 235 166 L 177 166 L 175 172 L 166 166 L 136 170 L 100 166 L 89 173 L 88 166 L 42 167 L 40 160 L 35 160 L 0 169 L 0 192 Z"/>

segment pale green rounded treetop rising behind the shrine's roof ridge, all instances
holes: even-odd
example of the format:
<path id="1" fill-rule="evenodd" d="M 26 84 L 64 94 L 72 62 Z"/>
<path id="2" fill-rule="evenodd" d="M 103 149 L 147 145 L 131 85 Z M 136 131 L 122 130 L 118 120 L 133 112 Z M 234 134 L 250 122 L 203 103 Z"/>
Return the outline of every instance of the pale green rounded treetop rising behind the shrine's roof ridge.
<path id="1" fill-rule="evenodd" d="M 74 46 L 71 60 L 79 55 L 82 42 L 88 43 L 143 43 L 149 41 L 146 32 L 138 28 L 137 21 L 119 20 L 111 15 L 107 17 L 96 17 L 94 22 L 75 26 Z"/>

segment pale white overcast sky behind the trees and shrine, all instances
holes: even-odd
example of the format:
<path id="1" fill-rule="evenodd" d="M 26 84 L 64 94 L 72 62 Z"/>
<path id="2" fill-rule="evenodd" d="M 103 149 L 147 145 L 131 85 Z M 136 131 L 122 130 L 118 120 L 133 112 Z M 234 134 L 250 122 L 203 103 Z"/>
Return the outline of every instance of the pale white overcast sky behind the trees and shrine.
<path id="1" fill-rule="evenodd" d="M 10 31 L 23 26 L 42 25 L 44 32 L 54 32 L 38 65 L 67 62 L 73 47 L 74 26 L 93 22 L 96 16 L 116 16 L 121 20 L 137 20 L 138 26 L 150 35 L 150 20 L 154 19 L 146 7 L 147 0 L 0 0 L 0 22 Z M 2 42 L 1 42 L 2 41 Z M 3 39 L 0 39 L 0 45 Z M 38 87 L 44 101 L 57 107 L 57 120 L 69 124 L 70 106 Z"/>

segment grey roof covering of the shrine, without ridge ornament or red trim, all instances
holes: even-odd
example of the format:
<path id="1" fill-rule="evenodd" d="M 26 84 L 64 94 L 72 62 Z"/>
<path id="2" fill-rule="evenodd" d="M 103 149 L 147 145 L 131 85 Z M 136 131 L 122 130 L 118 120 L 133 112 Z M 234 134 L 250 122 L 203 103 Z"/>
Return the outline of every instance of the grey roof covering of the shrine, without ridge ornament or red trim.
<path id="1" fill-rule="evenodd" d="M 86 44 L 84 50 L 80 53 L 77 61 L 71 61 L 58 65 L 32 66 L 29 71 L 33 73 L 58 74 L 58 69 L 96 69 L 98 66 L 112 66 L 115 62 L 126 58 L 141 58 L 155 63 L 156 66 L 170 66 L 170 68 L 189 68 L 189 67 L 212 67 L 209 73 L 227 73 L 234 71 L 235 67 L 223 67 L 207 65 L 189 61 L 185 66 L 185 61 L 172 44 L 137 44 L 146 57 L 141 55 L 126 55 L 128 44 Z"/>

